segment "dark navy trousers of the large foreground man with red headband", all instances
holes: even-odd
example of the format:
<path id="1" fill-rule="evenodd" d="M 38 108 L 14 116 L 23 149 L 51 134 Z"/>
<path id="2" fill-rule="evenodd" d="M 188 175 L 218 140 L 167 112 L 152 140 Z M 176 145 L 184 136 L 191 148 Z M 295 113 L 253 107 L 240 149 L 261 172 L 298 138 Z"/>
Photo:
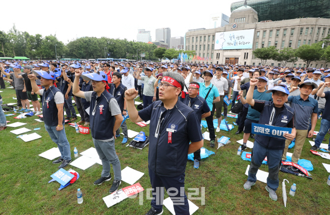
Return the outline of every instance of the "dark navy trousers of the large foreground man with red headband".
<path id="1" fill-rule="evenodd" d="M 149 166 L 148 166 L 149 167 Z M 149 167 L 149 177 L 153 188 L 151 206 L 161 212 L 164 200 L 164 187 L 173 201 L 177 215 L 190 215 L 188 199 L 185 194 L 185 173 L 178 176 L 158 176 Z"/>

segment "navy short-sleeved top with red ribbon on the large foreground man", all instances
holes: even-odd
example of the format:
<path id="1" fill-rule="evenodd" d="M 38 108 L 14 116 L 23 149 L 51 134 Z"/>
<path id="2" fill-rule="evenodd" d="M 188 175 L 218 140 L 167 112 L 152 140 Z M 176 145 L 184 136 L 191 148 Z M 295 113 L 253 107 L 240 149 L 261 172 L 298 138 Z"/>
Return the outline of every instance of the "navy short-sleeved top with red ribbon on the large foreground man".
<path id="1" fill-rule="evenodd" d="M 186 171 L 189 142 L 201 141 L 200 122 L 196 113 L 181 101 L 167 110 L 155 101 L 138 112 L 150 120 L 148 164 L 159 176 L 178 176 Z"/>

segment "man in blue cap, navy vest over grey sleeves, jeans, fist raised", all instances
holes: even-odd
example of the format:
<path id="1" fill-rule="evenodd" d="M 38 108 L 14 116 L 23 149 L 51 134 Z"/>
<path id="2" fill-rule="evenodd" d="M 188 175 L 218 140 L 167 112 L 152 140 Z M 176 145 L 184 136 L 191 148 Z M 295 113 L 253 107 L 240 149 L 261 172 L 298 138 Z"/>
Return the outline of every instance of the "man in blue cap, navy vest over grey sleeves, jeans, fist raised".
<path id="1" fill-rule="evenodd" d="M 84 80 L 92 81 L 93 91 L 83 92 L 79 90 L 80 76 Z M 98 71 L 82 75 L 81 70 L 75 70 L 75 77 L 72 88 L 73 94 L 91 102 L 90 128 L 95 149 L 102 161 L 101 178 L 96 180 L 94 184 L 100 185 L 111 180 L 111 163 L 115 176 L 109 192 L 113 193 L 118 189 L 122 180 L 120 161 L 115 150 L 116 130 L 123 122 L 122 112 L 115 97 L 108 92 L 110 89 L 107 84 L 108 76 L 104 72 Z"/>

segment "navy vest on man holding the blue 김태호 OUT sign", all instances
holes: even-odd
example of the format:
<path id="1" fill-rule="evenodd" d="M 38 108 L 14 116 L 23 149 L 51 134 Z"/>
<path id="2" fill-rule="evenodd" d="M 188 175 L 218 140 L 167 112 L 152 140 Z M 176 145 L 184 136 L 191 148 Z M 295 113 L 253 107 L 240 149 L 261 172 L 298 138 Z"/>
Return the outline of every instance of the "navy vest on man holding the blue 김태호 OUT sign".
<path id="1" fill-rule="evenodd" d="M 278 127 L 287 127 L 288 123 L 294 117 L 295 110 L 284 104 L 284 108 L 280 113 L 276 113 L 274 103 L 265 101 L 264 110 L 260 114 L 259 124 L 268 124 Z M 286 120 L 285 120 L 286 119 Z M 271 122 L 272 121 L 272 122 Z M 271 122 L 271 123 L 270 123 Z M 253 128 L 252 128 L 253 129 Z M 257 134 L 255 140 L 268 149 L 281 150 L 285 148 L 285 139 L 276 137 L 268 137 Z"/>

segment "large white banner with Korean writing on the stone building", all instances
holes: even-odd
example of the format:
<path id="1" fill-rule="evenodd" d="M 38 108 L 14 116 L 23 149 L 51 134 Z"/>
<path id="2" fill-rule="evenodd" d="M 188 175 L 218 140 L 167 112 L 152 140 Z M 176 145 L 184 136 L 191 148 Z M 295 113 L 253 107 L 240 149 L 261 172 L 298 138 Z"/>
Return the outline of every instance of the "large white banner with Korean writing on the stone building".
<path id="1" fill-rule="evenodd" d="M 254 29 L 215 33 L 214 50 L 252 49 Z"/>

